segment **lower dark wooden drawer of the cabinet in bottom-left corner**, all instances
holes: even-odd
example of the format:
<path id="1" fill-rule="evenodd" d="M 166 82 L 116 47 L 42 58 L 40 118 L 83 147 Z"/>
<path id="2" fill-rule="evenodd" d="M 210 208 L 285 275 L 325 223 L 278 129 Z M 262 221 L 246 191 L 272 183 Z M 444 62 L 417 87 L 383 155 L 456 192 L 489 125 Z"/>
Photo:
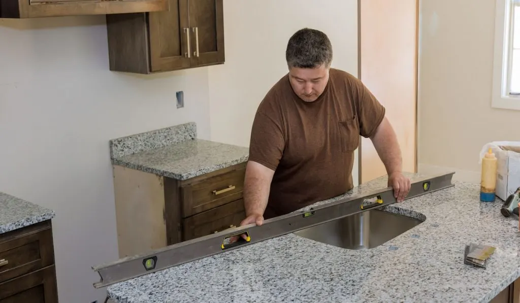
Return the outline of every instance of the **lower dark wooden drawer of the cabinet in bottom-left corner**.
<path id="1" fill-rule="evenodd" d="M 0 283 L 2 303 L 58 303 L 54 265 Z"/>

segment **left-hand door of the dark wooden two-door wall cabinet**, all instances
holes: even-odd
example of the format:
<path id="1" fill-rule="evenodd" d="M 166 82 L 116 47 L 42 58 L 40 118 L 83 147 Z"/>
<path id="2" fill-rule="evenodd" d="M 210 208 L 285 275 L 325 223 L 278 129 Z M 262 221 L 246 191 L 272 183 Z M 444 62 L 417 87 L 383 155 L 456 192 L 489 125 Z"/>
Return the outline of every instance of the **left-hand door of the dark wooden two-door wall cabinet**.
<path id="1" fill-rule="evenodd" d="M 151 71 L 190 67 L 188 0 L 170 0 L 170 10 L 150 12 Z"/>

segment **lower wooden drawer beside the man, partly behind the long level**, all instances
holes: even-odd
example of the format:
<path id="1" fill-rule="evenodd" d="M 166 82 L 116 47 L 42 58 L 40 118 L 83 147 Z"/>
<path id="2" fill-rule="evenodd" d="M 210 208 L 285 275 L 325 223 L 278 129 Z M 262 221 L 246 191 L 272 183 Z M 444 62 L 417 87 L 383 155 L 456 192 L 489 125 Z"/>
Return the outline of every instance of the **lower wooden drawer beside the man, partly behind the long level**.
<path id="1" fill-rule="evenodd" d="M 239 226 L 245 219 L 242 199 L 206 210 L 183 220 L 184 241 Z"/>

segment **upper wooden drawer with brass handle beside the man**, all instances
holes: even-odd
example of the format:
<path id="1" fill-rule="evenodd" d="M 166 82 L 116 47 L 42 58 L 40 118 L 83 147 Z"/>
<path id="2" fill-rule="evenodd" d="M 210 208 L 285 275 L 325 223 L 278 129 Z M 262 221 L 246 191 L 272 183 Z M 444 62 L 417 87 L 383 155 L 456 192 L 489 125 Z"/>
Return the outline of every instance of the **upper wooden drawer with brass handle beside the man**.
<path id="1" fill-rule="evenodd" d="M 180 188 L 182 217 L 186 218 L 242 199 L 244 176 L 245 165 L 238 166 L 230 172 L 182 185 Z"/>

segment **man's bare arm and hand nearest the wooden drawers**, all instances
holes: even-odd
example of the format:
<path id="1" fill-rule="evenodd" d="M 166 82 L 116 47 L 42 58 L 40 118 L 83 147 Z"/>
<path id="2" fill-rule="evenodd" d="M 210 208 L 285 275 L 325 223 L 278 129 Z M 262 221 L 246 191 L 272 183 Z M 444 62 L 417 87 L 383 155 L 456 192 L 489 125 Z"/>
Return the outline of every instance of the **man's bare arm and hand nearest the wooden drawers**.
<path id="1" fill-rule="evenodd" d="M 246 165 L 243 191 L 246 218 L 240 223 L 241 226 L 250 223 L 262 225 L 274 174 L 274 170 L 254 161 Z"/>

